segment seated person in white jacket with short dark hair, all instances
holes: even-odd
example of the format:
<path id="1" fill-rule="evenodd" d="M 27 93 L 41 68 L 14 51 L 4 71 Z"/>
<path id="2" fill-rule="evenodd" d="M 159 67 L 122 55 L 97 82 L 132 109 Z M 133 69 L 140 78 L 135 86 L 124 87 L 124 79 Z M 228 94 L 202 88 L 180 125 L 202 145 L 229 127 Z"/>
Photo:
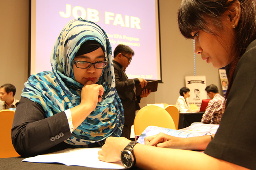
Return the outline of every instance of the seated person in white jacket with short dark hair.
<path id="1" fill-rule="evenodd" d="M 177 99 L 176 107 L 179 112 L 199 112 L 199 110 L 192 110 L 189 105 L 188 98 L 190 97 L 190 90 L 187 87 L 182 87 L 180 89 L 180 96 Z"/>

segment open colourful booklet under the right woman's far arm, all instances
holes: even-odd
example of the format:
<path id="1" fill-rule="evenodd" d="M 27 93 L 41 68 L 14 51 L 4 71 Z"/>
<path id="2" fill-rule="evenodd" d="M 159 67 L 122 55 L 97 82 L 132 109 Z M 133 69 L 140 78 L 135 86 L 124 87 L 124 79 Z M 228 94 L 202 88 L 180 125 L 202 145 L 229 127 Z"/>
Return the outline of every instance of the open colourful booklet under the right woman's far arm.
<path id="1" fill-rule="evenodd" d="M 193 124 L 189 127 L 175 130 L 168 129 L 164 127 L 158 126 L 148 126 L 143 133 L 140 135 L 137 142 L 144 144 L 144 138 L 148 136 L 157 135 L 160 132 L 165 133 L 167 135 L 172 135 L 174 137 L 188 138 L 188 137 L 197 137 L 203 136 L 207 133 L 215 134 L 219 128 L 219 124 Z"/>

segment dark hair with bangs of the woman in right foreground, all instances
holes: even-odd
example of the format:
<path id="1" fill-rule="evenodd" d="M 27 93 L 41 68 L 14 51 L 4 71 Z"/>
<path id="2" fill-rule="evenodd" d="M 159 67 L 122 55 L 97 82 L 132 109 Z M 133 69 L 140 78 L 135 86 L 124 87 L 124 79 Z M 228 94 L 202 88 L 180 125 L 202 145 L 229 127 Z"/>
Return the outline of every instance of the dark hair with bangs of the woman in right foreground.
<path id="1" fill-rule="evenodd" d="M 211 35 L 218 36 L 218 32 L 208 27 L 208 20 L 217 28 L 223 28 L 221 16 L 237 0 L 182 0 L 178 9 L 178 25 L 182 35 L 193 39 L 191 32 L 202 30 Z M 235 28 L 235 40 L 231 57 L 235 57 L 227 67 L 229 87 L 226 97 L 232 86 L 233 74 L 238 60 L 245 53 L 248 45 L 256 39 L 256 0 L 238 0 L 241 7 L 241 16 Z"/>

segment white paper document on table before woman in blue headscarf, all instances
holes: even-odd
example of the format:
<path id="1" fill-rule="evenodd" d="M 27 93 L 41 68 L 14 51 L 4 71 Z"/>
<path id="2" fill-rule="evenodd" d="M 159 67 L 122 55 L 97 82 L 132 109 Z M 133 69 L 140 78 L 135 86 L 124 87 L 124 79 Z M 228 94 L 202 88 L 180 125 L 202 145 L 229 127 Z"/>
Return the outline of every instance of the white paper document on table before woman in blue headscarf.
<path id="1" fill-rule="evenodd" d="M 105 169 L 125 169 L 121 161 L 108 163 L 99 161 L 100 148 L 65 149 L 50 154 L 25 158 L 22 161 L 38 163 L 63 163 L 64 165 L 86 166 Z"/>

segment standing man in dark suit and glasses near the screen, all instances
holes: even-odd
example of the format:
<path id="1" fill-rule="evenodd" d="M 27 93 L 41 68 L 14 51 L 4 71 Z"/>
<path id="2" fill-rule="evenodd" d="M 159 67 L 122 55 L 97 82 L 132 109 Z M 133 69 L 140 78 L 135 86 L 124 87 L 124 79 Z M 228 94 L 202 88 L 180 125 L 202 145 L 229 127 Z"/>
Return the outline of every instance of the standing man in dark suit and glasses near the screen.
<path id="1" fill-rule="evenodd" d="M 140 109 L 140 99 L 147 97 L 150 90 L 143 90 L 141 95 L 136 96 L 135 87 L 141 85 L 147 86 L 147 80 L 143 78 L 128 79 L 125 74 L 126 68 L 132 61 L 134 51 L 131 47 L 119 44 L 114 50 L 114 73 L 116 80 L 116 90 L 124 107 L 124 129 L 122 136 L 130 139 L 131 126 L 133 125 L 135 112 Z"/>

